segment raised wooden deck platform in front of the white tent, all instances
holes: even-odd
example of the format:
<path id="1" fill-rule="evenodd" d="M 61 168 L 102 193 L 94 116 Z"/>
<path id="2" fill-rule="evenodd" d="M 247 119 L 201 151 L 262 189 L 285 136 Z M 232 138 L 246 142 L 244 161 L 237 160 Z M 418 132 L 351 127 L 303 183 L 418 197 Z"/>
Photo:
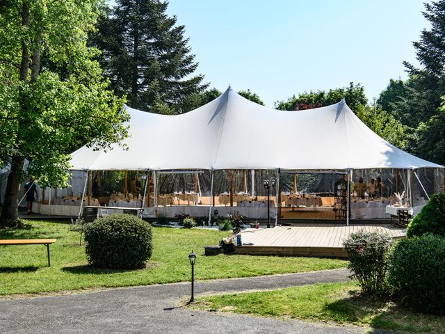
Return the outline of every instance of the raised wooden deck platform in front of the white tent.
<path id="1" fill-rule="evenodd" d="M 241 232 L 244 243 L 235 247 L 236 254 L 282 255 L 312 257 L 347 257 L 343 240 L 359 230 L 386 232 L 394 239 L 406 236 L 406 230 L 387 224 L 327 224 L 312 223 L 275 228 L 248 228 Z"/>

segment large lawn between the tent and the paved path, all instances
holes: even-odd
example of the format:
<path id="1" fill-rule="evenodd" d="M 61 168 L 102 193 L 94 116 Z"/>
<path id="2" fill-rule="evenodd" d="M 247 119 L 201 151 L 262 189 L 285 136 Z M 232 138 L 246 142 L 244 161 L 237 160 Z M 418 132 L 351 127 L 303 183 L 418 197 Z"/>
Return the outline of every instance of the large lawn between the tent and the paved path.
<path id="1" fill-rule="evenodd" d="M 37 294 L 99 287 L 124 287 L 190 280 L 188 254 L 195 250 L 195 278 L 236 278 L 298 273 L 346 267 L 346 261 L 309 257 L 248 255 L 204 256 L 204 246 L 216 245 L 229 232 L 154 228 L 154 252 L 145 269 L 116 271 L 88 267 L 79 233 L 70 224 L 25 221 L 22 229 L 0 230 L 0 239 L 56 238 L 50 246 L 51 267 L 42 245 L 0 246 L 0 295 Z"/>

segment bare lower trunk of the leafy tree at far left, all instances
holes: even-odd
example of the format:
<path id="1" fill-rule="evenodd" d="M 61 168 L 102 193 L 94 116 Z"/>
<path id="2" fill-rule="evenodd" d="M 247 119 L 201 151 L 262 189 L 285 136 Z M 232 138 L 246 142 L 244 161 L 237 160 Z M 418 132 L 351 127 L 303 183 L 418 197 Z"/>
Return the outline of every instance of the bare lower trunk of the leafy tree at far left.
<path id="1" fill-rule="evenodd" d="M 6 184 L 5 200 L 1 210 L 0 221 L 17 221 L 19 218 L 19 191 L 22 180 L 22 167 L 24 159 L 13 157 L 11 161 L 11 171 Z"/>

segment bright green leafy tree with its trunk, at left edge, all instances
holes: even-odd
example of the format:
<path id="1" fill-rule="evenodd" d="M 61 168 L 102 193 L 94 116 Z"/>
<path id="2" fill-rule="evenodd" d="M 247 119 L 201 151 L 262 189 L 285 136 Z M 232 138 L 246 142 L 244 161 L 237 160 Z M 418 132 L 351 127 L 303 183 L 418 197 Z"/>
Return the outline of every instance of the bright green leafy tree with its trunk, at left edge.
<path id="1" fill-rule="evenodd" d="M 127 136 L 123 100 L 86 46 L 98 3 L 0 3 L 0 159 L 10 166 L 0 223 L 17 220 L 25 159 L 40 184 L 62 186 L 73 148 L 109 148 Z"/>

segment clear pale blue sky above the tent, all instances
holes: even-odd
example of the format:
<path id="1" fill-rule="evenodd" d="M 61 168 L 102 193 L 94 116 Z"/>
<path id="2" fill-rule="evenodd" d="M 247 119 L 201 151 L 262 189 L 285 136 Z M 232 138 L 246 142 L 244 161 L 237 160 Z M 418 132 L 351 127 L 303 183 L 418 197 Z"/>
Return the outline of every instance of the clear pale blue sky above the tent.
<path id="1" fill-rule="evenodd" d="M 428 22 L 422 0 L 169 0 L 210 87 L 250 89 L 266 106 L 348 86 L 378 97 L 419 65 L 412 42 Z"/>

